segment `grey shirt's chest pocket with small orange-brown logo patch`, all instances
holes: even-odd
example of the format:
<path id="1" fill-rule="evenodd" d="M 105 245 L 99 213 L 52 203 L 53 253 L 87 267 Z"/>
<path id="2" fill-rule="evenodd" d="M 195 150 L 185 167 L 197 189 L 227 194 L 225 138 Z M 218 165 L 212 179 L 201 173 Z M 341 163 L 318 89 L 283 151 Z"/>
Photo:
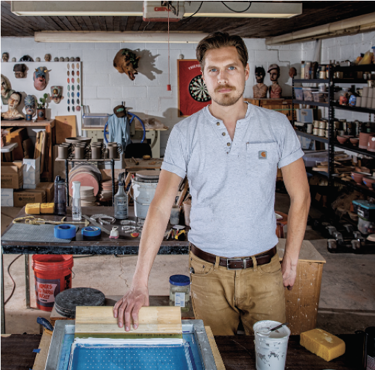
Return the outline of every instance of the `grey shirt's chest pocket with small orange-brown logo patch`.
<path id="1" fill-rule="evenodd" d="M 246 143 L 246 146 L 246 169 L 248 175 L 273 176 L 273 173 L 277 171 L 279 162 L 277 143 Z"/>

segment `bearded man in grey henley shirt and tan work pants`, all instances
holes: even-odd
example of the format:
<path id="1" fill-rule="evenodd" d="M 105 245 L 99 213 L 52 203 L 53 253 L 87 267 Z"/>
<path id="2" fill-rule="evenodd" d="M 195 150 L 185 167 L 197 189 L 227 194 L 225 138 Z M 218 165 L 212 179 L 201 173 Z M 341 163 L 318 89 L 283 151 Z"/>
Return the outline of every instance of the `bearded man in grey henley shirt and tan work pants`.
<path id="1" fill-rule="evenodd" d="M 196 319 L 214 335 L 247 334 L 262 319 L 285 321 L 284 287 L 293 287 L 309 211 L 303 152 L 284 114 L 244 103 L 248 53 L 241 37 L 213 33 L 196 57 L 212 105 L 177 123 L 149 206 L 131 288 L 113 308 L 129 331 L 149 305 L 148 278 L 181 179 L 192 195 L 190 272 Z M 291 196 L 286 250 L 275 252 L 277 165 Z M 246 267 L 246 268 L 245 268 Z M 238 270 L 236 270 L 238 269 Z"/>

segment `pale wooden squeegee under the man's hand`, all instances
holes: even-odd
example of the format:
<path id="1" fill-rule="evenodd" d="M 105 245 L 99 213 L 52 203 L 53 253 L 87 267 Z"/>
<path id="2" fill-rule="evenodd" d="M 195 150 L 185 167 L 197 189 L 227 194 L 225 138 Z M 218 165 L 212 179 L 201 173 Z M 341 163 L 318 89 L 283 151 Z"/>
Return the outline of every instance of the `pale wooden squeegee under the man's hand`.
<path id="1" fill-rule="evenodd" d="M 80 306 L 75 313 L 75 338 L 180 338 L 182 339 L 181 308 L 142 307 L 138 314 L 138 328 L 130 331 L 118 327 L 113 308 L 108 306 Z"/>

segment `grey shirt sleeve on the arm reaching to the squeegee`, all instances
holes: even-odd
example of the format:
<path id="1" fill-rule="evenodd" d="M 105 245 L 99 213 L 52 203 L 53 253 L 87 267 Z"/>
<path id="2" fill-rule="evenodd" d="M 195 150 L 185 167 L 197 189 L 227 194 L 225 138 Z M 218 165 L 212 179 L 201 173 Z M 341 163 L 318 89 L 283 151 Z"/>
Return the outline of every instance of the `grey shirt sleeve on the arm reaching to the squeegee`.
<path id="1" fill-rule="evenodd" d="M 187 158 L 184 146 L 185 141 L 182 138 L 179 128 L 176 126 L 173 127 L 167 142 L 161 169 L 175 173 L 182 179 L 185 177 L 187 170 Z"/>

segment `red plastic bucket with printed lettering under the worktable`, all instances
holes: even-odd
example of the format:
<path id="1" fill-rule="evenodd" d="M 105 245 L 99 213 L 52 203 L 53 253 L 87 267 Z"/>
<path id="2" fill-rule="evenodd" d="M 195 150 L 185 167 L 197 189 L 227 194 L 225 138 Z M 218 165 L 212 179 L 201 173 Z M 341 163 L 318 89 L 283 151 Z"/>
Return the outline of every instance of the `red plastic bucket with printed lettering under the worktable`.
<path id="1" fill-rule="evenodd" d="M 34 254 L 33 270 L 37 308 L 52 311 L 55 297 L 72 287 L 71 254 Z"/>

